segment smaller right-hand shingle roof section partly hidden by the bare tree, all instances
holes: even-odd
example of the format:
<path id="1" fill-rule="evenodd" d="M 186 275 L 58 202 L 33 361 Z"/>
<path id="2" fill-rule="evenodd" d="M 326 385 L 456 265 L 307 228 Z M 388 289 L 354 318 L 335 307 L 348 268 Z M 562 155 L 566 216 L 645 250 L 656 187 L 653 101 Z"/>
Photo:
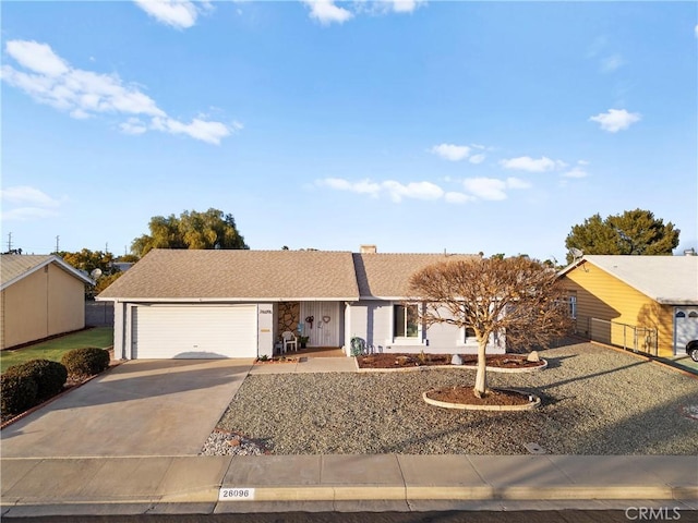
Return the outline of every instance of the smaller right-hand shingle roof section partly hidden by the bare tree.
<path id="1" fill-rule="evenodd" d="M 456 259 L 471 259 L 474 254 L 353 254 L 361 297 L 409 297 L 410 277 L 428 265 Z"/>

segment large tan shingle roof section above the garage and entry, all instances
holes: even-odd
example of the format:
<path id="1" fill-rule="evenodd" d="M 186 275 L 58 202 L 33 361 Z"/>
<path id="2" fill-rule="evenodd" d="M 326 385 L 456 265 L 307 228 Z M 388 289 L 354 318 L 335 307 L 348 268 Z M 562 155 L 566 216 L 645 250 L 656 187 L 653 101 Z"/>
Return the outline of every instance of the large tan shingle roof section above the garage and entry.
<path id="1" fill-rule="evenodd" d="M 153 250 L 98 299 L 357 300 L 349 252 Z"/>

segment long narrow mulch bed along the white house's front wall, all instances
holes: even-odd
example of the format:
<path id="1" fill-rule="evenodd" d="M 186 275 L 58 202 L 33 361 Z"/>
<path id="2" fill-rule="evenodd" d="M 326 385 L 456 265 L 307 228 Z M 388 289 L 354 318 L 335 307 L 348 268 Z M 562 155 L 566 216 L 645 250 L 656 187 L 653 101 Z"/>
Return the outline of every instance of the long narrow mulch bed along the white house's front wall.
<path id="1" fill-rule="evenodd" d="M 357 356 L 359 368 L 406 368 L 419 366 L 450 365 L 450 354 L 369 354 Z M 476 354 L 461 355 L 464 365 L 478 364 Z M 541 362 L 527 362 L 526 355 L 493 354 L 486 357 L 488 367 L 497 368 L 535 368 Z"/>

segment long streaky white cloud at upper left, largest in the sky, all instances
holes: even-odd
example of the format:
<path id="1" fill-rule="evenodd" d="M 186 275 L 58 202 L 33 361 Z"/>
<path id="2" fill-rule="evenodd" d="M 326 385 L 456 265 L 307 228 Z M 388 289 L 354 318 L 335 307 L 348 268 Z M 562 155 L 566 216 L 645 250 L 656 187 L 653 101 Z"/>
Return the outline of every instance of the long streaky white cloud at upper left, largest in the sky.
<path id="1" fill-rule="evenodd" d="M 119 124 L 127 134 L 143 134 L 158 130 L 171 134 L 185 134 L 192 138 L 219 144 L 220 139 L 242 129 L 233 122 L 195 118 L 183 123 L 167 115 L 153 98 L 137 86 L 125 84 L 116 74 L 101 74 L 71 68 L 46 44 L 11 40 L 7 51 L 27 71 L 11 65 L 2 66 L 2 80 L 40 104 L 67 111 L 72 118 L 86 119 L 109 113 L 128 117 Z M 139 117 L 151 119 L 149 124 Z"/>

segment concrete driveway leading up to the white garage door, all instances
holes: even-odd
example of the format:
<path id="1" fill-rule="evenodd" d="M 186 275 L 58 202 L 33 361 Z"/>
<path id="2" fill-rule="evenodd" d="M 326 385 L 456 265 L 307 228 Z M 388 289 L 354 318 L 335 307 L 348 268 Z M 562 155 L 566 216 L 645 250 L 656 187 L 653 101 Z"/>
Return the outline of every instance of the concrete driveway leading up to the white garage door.
<path id="1" fill-rule="evenodd" d="M 195 455 L 252 364 L 123 363 L 3 429 L 2 457 Z"/>

